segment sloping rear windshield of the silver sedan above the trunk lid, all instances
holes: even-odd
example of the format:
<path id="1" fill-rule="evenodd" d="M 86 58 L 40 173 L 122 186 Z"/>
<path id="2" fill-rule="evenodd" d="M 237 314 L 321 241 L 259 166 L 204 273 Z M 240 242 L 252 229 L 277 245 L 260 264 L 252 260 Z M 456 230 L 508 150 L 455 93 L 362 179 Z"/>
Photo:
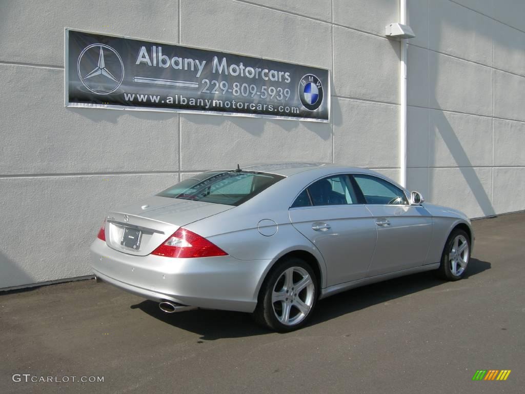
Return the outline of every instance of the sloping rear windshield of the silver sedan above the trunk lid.
<path id="1" fill-rule="evenodd" d="M 254 171 L 204 172 L 160 192 L 161 197 L 240 205 L 285 177 Z"/>

